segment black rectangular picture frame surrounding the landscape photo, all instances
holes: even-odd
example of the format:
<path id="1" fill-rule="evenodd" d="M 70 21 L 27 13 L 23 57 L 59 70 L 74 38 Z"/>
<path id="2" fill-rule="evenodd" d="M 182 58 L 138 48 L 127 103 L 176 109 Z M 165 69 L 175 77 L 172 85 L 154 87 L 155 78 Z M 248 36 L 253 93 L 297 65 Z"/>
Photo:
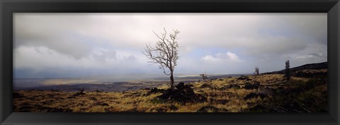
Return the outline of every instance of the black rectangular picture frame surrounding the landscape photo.
<path id="1" fill-rule="evenodd" d="M 12 13 L 327 13 L 328 113 L 12 112 Z M 339 124 L 339 0 L 0 0 L 0 124 Z"/>

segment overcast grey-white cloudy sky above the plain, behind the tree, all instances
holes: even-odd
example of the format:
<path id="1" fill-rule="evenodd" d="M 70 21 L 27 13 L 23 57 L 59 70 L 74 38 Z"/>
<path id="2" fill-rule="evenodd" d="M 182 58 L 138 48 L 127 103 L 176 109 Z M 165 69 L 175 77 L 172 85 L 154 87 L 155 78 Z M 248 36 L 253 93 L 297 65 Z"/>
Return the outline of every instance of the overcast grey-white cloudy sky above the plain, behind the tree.
<path id="1" fill-rule="evenodd" d="M 327 13 L 15 13 L 15 78 L 158 73 L 145 44 L 179 30 L 174 74 L 261 73 L 327 61 Z M 164 75 L 165 76 L 165 75 Z"/>

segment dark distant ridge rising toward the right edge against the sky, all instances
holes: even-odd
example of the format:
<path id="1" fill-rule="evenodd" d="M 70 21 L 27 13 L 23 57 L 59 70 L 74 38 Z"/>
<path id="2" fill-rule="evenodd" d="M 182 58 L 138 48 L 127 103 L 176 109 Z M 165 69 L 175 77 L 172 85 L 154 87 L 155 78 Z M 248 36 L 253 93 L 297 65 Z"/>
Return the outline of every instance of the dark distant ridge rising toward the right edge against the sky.
<path id="1" fill-rule="evenodd" d="M 304 70 L 304 69 L 327 69 L 327 61 L 326 62 L 322 62 L 322 63 L 316 63 L 316 64 L 305 64 L 302 66 L 297 66 L 294 68 L 291 68 L 290 71 L 295 72 L 295 71 L 300 71 L 300 70 Z M 272 73 L 280 73 L 283 74 L 285 73 L 285 69 L 280 70 L 280 71 L 273 71 L 273 72 L 269 72 L 269 73 L 263 73 L 263 74 L 272 74 Z"/>

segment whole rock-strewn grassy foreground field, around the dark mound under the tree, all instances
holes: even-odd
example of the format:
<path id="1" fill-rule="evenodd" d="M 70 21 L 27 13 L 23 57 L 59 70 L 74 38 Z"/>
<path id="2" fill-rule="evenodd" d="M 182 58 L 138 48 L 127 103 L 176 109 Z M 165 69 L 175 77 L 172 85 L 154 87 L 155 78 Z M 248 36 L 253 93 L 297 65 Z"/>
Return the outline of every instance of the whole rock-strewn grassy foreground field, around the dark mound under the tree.
<path id="1" fill-rule="evenodd" d="M 13 91 L 13 112 L 327 112 L 327 69 L 286 81 L 283 74 L 237 76 L 191 83 L 203 102 L 160 100 L 166 85 L 124 92 Z M 321 75 L 320 75 L 321 74 Z"/>

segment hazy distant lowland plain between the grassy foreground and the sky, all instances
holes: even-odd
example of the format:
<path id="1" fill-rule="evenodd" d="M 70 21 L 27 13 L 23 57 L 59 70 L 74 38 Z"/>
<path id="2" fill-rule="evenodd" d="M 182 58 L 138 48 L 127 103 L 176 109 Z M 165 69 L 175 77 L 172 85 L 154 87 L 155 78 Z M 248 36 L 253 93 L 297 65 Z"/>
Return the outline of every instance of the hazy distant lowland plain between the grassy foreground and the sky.
<path id="1" fill-rule="evenodd" d="M 242 76 L 244 74 L 234 75 L 215 75 L 209 78 L 225 78 L 229 76 Z M 137 77 L 137 76 L 136 76 Z M 177 83 L 191 83 L 200 80 L 201 76 L 179 76 L 175 77 Z M 130 78 L 131 79 L 131 78 Z M 133 79 L 133 78 L 132 78 Z M 126 90 L 138 90 L 142 88 L 155 88 L 167 85 L 168 77 L 149 78 L 144 80 L 129 80 L 108 82 L 101 78 L 20 78 L 15 79 L 13 90 L 58 90 L 64 92 L 76 92 L 81 89 L 86 91 L 105 91 L 105 92 L 123 92 Z"/>

